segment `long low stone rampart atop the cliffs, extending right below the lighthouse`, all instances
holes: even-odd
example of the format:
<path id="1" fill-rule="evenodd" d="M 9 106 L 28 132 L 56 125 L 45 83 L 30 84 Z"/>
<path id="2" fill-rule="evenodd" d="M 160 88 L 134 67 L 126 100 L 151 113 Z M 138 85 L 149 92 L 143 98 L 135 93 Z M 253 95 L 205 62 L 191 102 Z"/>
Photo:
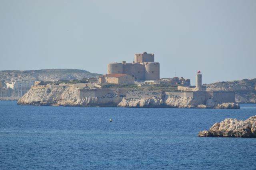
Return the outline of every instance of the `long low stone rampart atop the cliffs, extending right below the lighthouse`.
<path id="1" fill-rule="evenodd" d="M 113 97 L 121 96 L 133 99 L 147 99 L 156 97 L 163 99 L 165 96 L 176 96 L 181 98 L 191 98 L 194 105 L 210 103 L 235 103 L 234 91 L 132 91 L 132 89 L 78 89 L 80 99 L 85 97 Z"/>

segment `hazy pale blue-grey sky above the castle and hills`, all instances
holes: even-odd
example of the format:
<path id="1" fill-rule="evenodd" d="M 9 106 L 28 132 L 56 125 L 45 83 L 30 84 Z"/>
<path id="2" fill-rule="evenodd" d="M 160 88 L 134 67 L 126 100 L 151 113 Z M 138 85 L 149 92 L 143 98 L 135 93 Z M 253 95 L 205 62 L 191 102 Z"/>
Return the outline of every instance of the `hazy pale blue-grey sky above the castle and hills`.
<path id="1" fill-rule="evenodd" d="M 0 70 L 104 74 L 143 51 L 160 77 L 256 78 L 256 0 L 0 0 Z"/>

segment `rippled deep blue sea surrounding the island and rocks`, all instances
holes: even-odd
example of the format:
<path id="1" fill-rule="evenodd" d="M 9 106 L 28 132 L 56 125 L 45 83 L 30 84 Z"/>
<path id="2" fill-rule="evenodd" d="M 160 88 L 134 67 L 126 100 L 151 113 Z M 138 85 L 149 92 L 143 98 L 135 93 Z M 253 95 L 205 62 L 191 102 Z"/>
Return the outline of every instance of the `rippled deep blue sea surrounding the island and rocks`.
<path id="1" fill-rule="evenodd" d="M 253 115 L 256 104 L 222 110 L 0 101 L 0 169 L 256 169 L 256 138 L 197 136 L 225 118 Z"/>

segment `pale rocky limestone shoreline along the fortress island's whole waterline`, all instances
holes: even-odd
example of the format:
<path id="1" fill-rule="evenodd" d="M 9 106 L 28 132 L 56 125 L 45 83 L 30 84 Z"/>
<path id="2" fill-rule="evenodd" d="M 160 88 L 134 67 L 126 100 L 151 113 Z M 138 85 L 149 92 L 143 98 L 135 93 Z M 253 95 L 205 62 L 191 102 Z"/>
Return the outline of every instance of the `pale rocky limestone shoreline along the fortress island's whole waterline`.
<path id="1" fill-rule="evenodd" d="M 240 109 L 235 103 L 207 102 L 194 97 L 180 97 L 173 93 L 131 91 L 126 89 L 84 89 L 72 86 L 32 87 L 18 105 L 53 105 L 80 107 L 151 107 L 151 108 L 215 108 Z"/>

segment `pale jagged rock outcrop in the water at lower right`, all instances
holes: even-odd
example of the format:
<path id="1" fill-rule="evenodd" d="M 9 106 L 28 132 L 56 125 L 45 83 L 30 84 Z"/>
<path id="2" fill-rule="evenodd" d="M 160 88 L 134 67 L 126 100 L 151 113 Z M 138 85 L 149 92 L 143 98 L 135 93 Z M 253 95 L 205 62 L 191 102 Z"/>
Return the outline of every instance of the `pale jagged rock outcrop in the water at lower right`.
<path id="1" fill-rule="evenodd" d="M 215 123 L 210 130 L 203 130 L 198 133 L 200 137 L 256 137 L 256 115 L 245 121 L 236 119 L 225 119 Z"/>

